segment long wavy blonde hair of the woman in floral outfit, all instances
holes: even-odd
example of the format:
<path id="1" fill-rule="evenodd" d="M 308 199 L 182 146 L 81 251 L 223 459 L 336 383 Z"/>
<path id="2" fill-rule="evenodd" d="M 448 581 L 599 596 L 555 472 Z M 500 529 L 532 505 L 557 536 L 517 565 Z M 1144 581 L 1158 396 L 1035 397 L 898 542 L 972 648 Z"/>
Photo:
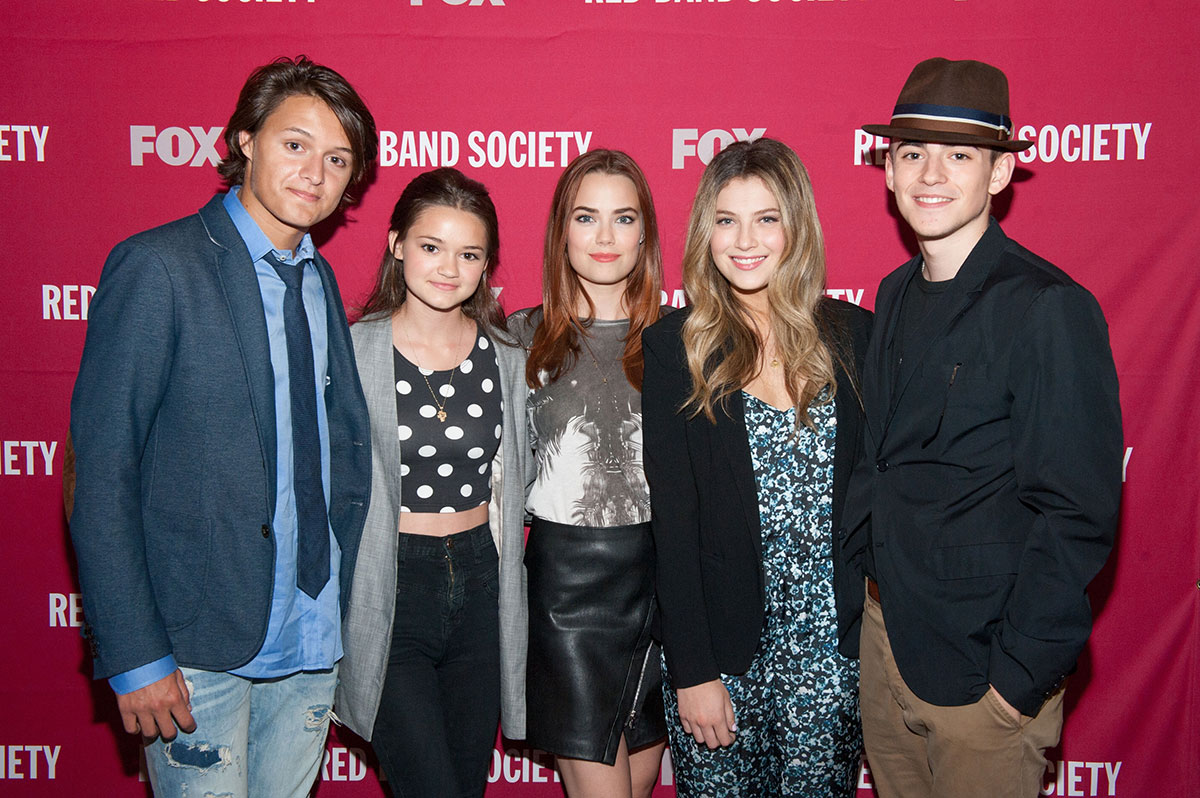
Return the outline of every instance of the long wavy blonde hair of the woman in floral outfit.
<path id="1" fill-rule="evenodd" d="M 718 194 L 732 180 L 746 178 L 758 178 L 775 196 L 786 232 L 784 252 L 767 286 L 770 328 L 787 394 L 804 410 L 797 413 L 797 426 L 811 427 L 808 408 L 826 386 L 828 396 L 836 390 L 826 344 L 828 322 L 818 310 L 826 287 L 824 239 L 804 164 L 791 148 L 769 138 L 727 146 L 704 169 L 696 188 L 683 253 L 683 284 L 692 307 L 683 325 L 692 384 L 683 409 L 692 418 L 703 413 L 715 421 L 714 407 L 724 406 L 758 373 L 762 342 L 749 312 L 718 271 L 709 246 Z"/>

